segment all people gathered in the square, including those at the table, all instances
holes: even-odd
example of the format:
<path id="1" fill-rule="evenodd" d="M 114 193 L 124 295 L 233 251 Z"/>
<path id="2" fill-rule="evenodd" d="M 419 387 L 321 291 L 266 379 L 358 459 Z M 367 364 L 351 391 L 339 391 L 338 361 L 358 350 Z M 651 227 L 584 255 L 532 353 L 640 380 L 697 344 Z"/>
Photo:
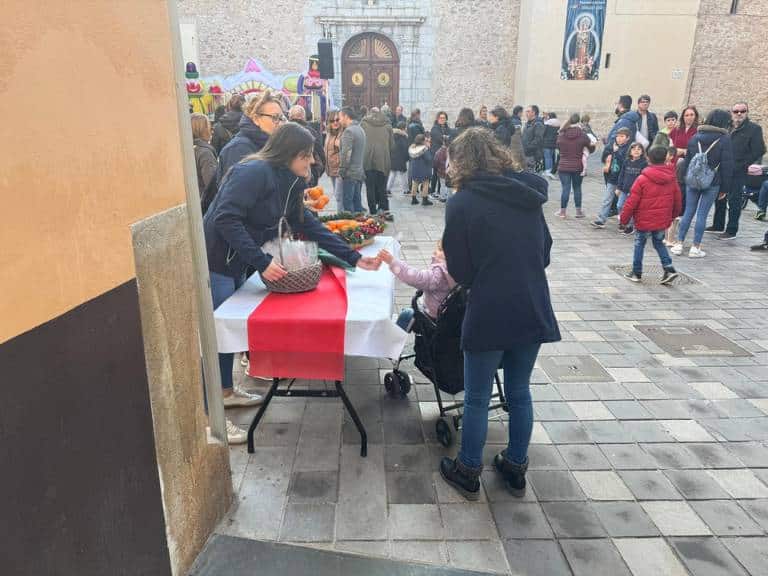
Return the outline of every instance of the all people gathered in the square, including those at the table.
<path id="1" fill-rule="evenodd" d="M 672 255 L 682 254 L 694 219 L 692 258 L 704 256 L 706 230 L 722 240 L 735 238 L 742 189 L 765 145 L 745 103 L 713 110 L 703 122 L 689 106 L 680 115 L 668 112 L 660 125 L 650 102 L 641 96 L 632 110 L 631 97 L 619 98 L 616 122 L 603 140 L 605 193 L 592 226 L 603 229 L 618 215 L 621 232 L 635 234 L 627 274 L 634 282 L 642 280 L 650 238 L 664 268 L 661 282 L 669 283 L 677 276 Z M 535 105 L 517 106 L 511 114 L 483 106 L 477 117 L 462 109 L 453 126 L 440 111 L 427 129 L 419 110 L 406 119 L 401 107 L 394 113 L 386 106 L 345 107 L 329 111 L 320 126 L 269 91 L 248 103 L 233 99 L 217 117 L 211 127 L 205 116 L 192 116 L 214 307 L 251 271 L 270 281 L 287 273 L 262 250 L 277 235 L 281 217 L 351 266 L 375 270 L 386 264 L 424 291 L 425 312 L 433 318 L 454 286 L 471 289 L 461 334 L 461 449 L 456 458 L 444 458 L 439 471 L 466 498 L 479 497 L 487 411 L 501 366 L 509 440 L 494 466 L 508 490 L 523 495 L 533 425 L 530 376 L 541 345 L 560 339 L 545 274 L 552 247 L 543 212 L 547 179 L 561 184 L 556 216 L 567 218 L 573 191 L 576 218 L 584 218 L 582 181 L 600 144 L 590 118 L 572 114 L 561 124 L 555 113 L 541 114 Z M 446 202 L 445 229 L 431 266 L 418 270 L 386 251 L 363 257 L 329 232 L 304 197 L 324 173 L 340 210 L 365 211 L 363 184 L 367 212 L 382 218 L 392 218 L 393 194 L 410 195 L 414 205 Z M 764 218 L 764 197 L 756 197 Z M 706 228 L 714 202 L 715 218 Z M 753 249 L 768 251 L 768 234 Z M 234 385 L 232 354 L 220 355 L 220 367 L 226 407 L 261 402 Z M 245 441 L 243 430 L 229 420 L 227 427 L 231 443 Z"/>

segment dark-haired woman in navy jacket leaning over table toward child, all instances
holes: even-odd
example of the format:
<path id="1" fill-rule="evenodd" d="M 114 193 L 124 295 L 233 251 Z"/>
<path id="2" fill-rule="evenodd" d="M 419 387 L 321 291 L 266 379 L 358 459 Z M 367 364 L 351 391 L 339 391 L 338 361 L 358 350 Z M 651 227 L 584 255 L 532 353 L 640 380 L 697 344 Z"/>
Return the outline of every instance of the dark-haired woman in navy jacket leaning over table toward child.
<path id="1" fill-rule="evenodd" d="M 314 138 L 298 124 L 278 128 L 261 152 L 236 164 L 203 220 L 213 307 L 218 308 L 255 269 L 267 280 L 286 270 L 262 245 L 277 237 L 278 221 L 286 214 L 294 232 L 366 270 L 378 268 L 375 258 L 361 258 L 306 208 L 304 189 L 313 159 Z M 219 354 L 224 406 L 249 406 L 261 398 L 233 386 L 232 354 Z M 228 429 L 231 427 L 228 424 Z M 232 427 L 230 435 L 241 437 Z"/>

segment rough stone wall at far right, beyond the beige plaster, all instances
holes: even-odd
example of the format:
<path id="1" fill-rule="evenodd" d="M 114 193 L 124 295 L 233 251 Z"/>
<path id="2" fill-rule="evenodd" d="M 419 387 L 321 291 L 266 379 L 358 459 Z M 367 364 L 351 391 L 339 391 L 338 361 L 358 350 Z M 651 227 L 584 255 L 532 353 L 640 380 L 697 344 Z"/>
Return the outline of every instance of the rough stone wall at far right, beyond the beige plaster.
<path id="1" fill-rule="evenodd" d="M 688 100 L 699 111 L 749 102 L 753 120 L 768 122 L 768 0 L 702 0 L 691 58 Z"/>

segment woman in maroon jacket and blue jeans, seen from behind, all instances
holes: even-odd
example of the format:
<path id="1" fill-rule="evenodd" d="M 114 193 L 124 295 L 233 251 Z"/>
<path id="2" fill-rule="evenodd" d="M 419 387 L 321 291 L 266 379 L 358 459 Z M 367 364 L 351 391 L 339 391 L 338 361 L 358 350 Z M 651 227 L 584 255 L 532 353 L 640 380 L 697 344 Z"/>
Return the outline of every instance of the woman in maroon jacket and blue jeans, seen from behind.
<path id="1" fill-rule="evenodd" d="M 560 178 L 560 211 L 557 216 L 567 216 L 568 201 L 571 198 L 573 188 L 573 202 L 576 204 L 576 218 L 584 218 L 581 210 L 581 175 L 584 170 L 584 148 L 590 152 L 595 151 L 595 145 L 579 126 L 580 116 L 572 114 L 557 135 L 556 146 L 560 149 L 560 162 L 557 167 L 557 175 Z"/>

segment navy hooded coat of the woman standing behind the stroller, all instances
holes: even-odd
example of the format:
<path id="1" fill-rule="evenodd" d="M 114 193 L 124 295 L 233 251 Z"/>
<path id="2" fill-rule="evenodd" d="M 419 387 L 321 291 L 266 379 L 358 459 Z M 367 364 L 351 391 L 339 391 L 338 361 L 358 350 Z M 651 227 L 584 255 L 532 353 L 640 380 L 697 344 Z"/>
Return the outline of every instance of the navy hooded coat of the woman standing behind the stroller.
<path id="1" fill-rule="evenodd" d="M 546 180 L 526 172 L 476 174 L 448 200 L 448 272 L 469 288 L 464 350 L 560 340 L 545 273 L 552 248 L 546 201 Z"/>

